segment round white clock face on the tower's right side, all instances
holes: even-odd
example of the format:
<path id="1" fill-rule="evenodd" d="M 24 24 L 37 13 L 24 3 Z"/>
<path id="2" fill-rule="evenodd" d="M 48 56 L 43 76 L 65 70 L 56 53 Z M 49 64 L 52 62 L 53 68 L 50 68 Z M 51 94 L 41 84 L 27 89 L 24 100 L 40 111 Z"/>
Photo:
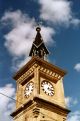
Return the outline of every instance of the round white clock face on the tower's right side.
<path id="1" fill-rule="evenodd" d="M 49 96 L 54 95 L 54 87 L 49 81 L 42 81 L 41 83 L 42 90 Z"/>

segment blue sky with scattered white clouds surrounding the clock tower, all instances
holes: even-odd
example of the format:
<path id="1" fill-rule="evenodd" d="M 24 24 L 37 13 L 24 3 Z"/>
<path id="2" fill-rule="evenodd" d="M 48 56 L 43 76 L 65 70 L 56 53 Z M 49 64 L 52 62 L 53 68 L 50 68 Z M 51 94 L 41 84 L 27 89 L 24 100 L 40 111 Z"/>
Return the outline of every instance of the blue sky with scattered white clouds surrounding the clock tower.
<path id="1" fill-rule="evenodd" d="M 0 121 L 12 121 L 15 102 L 1 93 L 15 98 L 12 76 L 30 59 L 38 23 L 49 62 L 68 72 L 68 121 L 80 121 L 80 0 L 0 0 Z"/>

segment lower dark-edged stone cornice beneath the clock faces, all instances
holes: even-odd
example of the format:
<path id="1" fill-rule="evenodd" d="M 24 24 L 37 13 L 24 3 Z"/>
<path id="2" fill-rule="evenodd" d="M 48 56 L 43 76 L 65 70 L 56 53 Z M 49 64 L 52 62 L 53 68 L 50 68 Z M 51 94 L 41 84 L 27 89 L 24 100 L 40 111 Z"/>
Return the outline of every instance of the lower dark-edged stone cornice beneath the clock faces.
<path id="1" fill-rule="evenodd" d="M 49 110 L 54 110 L 54 112 L 57 112 L 58 114 L 61 114 L 61 115 L 67 115 L 70 112 L 70 110 L 68 110 L 67 108 L 59 106 L 59 105 L 57 105 L 55 103 L 52 103 L 52 102 L 49 102 L 47 100 L 44 100 L 44 99 L 42 99 L 40 97 L 34 97 L 33 100 L 29 100 L 23 106 L 16 109 L 11 114 L 11 116 L 12 117 L 17 116 L 19 113 L 21 113 L 22 111 L 27 109 L 32 104 L 34 104 L 36 107 L 38 106 L 38 108 L 43 107 L 43 108 L 47 108 Z"/>

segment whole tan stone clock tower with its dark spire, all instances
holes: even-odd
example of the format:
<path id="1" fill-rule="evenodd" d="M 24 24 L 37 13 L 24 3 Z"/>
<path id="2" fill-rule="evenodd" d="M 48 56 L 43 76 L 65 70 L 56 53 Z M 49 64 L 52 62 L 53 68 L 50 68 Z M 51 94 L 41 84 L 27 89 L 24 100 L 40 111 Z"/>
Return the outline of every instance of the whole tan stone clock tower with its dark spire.
<path id="1" fill-rule="evenodd" d="M 17 83 L 14 121 L 66 121 L 63 77 L 66 72 L 45 60 L 49 54 L 40 27 L 26 63 L 14 76 Z"/>

